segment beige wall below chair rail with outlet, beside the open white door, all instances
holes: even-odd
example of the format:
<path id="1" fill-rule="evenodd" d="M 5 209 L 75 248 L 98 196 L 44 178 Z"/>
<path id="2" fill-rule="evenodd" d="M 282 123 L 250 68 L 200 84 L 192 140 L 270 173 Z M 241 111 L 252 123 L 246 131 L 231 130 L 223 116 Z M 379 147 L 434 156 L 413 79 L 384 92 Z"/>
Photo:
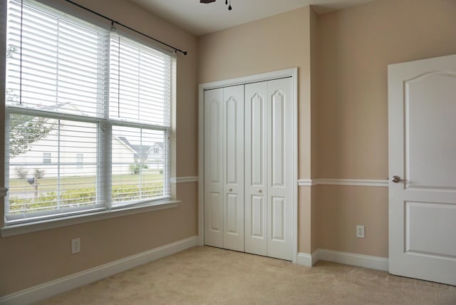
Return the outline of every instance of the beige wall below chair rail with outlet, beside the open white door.
<path id="1" fill-rule="evenodd" d="M 319 249 L 388 257 L 388 189 L 318 185 L 316 200 Z M 356 238 L 356 224 L 366 226 L 366 238 Z"/>

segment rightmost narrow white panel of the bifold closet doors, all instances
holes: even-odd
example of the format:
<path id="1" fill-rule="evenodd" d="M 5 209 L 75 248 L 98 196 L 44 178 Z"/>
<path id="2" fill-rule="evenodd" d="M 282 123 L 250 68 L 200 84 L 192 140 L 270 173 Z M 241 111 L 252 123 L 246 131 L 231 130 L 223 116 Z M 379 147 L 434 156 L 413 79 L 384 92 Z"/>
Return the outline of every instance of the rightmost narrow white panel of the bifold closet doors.
<path id="1" fill-rule="evenodd" d="M 267 255 L 292 259 L 293 85 L 291 78 L 268 81 Z"/>

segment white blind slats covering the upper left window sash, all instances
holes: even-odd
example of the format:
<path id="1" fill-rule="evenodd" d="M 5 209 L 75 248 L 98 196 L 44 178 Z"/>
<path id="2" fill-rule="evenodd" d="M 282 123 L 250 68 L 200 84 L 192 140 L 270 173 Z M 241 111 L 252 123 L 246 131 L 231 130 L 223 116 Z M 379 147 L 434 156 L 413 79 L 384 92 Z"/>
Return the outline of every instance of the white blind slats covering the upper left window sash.
<path id="1" fill-rule="evenodd" d="M 101 117 L 109 32 L 24 1 L 9 1 L 9 105 Z"/>

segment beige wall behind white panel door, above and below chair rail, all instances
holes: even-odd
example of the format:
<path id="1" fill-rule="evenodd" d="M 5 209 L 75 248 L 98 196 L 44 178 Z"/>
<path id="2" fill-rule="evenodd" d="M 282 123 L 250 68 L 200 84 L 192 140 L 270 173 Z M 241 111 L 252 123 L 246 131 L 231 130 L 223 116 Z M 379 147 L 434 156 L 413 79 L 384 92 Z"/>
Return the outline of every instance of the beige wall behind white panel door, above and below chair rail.
<path id="1" fill-rule="evenodd" d="M 317 33 L 312 176 L 385 180 L 387 66 L 456 53 L 456 1 L 374 1 L 319 16 Z M 388 188 L 314 189 L 319 248 L 388 257 Z M 356 224 L 366 225 L 366 239 L 356 239 Z"/>

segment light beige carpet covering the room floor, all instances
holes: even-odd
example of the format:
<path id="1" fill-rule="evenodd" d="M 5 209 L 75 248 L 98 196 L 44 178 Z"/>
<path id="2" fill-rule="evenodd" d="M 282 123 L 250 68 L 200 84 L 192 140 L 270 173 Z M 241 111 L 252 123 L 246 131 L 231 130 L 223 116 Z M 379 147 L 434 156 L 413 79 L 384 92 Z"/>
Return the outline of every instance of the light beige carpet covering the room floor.
<path id="1" fill-rule="evenodd" d="M 164 259 L 39 304 L 456 304 L 456 286 L 318 262 L 313 268 L 212 247 Z"/>

